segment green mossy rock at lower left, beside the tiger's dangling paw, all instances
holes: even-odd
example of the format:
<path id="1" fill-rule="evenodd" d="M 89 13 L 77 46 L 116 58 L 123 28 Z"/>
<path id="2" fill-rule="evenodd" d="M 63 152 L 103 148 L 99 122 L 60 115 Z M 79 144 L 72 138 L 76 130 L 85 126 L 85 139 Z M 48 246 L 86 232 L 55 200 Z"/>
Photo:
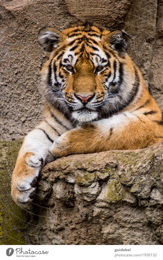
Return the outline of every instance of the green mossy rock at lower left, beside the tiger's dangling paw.
<path id="1" fill-rule="evenodd" d="M 0 241 L 5 245 L 24 245 L 27 213 L 11 197 L 11 175 L 22 140 L 0 144 Z"/>

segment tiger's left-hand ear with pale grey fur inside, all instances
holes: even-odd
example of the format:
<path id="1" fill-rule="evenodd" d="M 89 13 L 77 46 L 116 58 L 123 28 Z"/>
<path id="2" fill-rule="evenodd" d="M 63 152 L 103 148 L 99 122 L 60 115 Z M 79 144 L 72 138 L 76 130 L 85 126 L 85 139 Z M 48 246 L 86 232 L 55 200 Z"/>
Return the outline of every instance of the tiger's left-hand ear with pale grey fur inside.
<path id="1" fill-rule="evenodd" d="M 58 47 L 59 42 L 62 38 L 62 32 L 59 32 L 52 27 L 41 29 L 38 35 L 38 41 L 44 47 L 44 53 L 47 56 L 50 55 L 51 51 Z"/>

